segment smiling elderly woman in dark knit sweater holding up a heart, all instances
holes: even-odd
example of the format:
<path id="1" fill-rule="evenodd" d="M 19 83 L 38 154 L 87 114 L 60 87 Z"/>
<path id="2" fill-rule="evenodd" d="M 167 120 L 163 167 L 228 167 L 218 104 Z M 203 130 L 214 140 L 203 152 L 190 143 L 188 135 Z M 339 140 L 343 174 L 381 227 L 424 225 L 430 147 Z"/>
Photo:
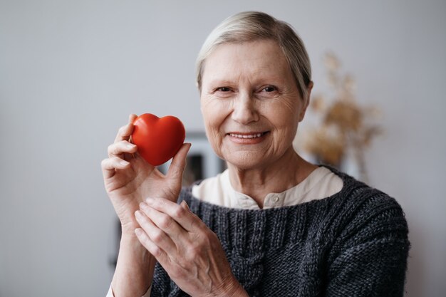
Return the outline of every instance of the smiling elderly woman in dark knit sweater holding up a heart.
<path id="1" fill-rule="evenodd" d="M 161 174 L 130 142 L 130 115 L 102 163 L 123 230 L 109 296 L 403 296 L 399 204 L 293 149 L 313 87 L 294 30 L 258 12 L 226 19 L 197 86 L 228 169 L 182 189 L 190 144 Z"/>

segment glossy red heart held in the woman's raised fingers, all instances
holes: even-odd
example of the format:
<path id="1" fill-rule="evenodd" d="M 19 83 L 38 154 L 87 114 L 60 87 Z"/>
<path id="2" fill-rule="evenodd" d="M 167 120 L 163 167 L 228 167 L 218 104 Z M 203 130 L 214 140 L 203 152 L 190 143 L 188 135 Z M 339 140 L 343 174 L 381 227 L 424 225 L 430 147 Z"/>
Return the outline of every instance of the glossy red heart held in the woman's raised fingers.
<path id="1" fill-rule="evenodd" d="M 145 113 L 136 118 L 133 125 L 133 143 L 138 146 L 141 157 L 153 166 L 170 160 L 185 142 L 185 126 L 172 115 L 158 118 Z"/>

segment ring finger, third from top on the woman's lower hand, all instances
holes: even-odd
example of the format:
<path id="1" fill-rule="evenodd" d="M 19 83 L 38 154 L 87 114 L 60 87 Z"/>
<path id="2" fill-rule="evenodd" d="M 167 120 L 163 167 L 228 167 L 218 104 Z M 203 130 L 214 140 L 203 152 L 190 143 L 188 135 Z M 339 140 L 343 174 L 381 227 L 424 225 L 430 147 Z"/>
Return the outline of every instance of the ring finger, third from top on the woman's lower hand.
<path id="1" fill-rule="evenodd" d="M 150 241 L 160 249 L 169 253 L 177 253 L 177 246 L 165 231 L 158 228 L 146 214 L 140 210 L 135 212 L 135 218 L 141 228 L 145 231 Z M 155 256 L 155 255 L 154 255 Z"/>

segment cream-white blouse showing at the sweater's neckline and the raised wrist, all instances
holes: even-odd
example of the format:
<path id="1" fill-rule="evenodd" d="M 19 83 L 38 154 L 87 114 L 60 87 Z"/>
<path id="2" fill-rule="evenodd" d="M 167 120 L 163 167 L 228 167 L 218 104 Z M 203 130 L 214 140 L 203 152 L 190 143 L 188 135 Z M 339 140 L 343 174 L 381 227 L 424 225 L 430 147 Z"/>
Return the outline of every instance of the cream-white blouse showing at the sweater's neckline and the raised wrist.
<path id="1" fill-rule="evenodd" d="M 328 170 L 318 167 L 296 186 L 281 193 L 269 193 L 264 199 L 264 209 L 274 207 L 289 207 L 292 205 L 323 199 L 341 191 L 341 177 Z M 229 180 L 229 170 L 224 170 L 215 177 L 204 179 L 192 187 L 192 195 L 197 199 L 222 207 L 237 209 L 260 209 L 259 205 L 246 194 L 237 192 Z M 142 297 L 150 297 L 150 287 Z M 114 297 L 111 285 L 106 297 Z"/>

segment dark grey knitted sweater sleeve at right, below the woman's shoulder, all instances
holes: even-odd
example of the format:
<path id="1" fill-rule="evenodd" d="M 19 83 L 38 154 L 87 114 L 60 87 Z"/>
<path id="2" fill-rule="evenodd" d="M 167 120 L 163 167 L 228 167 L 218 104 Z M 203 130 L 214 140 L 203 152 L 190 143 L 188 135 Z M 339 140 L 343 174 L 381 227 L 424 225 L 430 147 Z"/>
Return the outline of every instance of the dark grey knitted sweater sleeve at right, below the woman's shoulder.
<path id="1" fill-rule="evenodd" d="M 349 207 L 329 256 L 326 296 L 403 296 L 408 225 L 398 202 L 376 192 Z"/>

